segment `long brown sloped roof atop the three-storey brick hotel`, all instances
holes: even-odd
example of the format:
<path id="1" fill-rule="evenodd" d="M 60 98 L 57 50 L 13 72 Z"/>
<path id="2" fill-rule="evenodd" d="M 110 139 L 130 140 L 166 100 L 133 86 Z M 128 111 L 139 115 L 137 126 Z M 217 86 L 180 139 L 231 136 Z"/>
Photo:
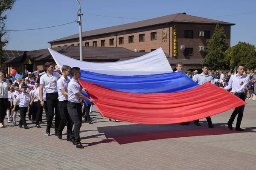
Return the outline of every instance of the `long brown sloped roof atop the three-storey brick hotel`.
<path id="1" fill-rule="evenodd" d="M 82 37 L 109 34 L 109 33 L 114 33 L 119 31 L 132 30 L 135 28 L 143 28 L 143 27 L 166 24 L 166 23 L 207 23 L 207 24 L 226 24 L 231 26 L 235 25 L 234 23 L 227 23 L 224 21 L 196 17 L 192 15 L 187 15 L 186 13 L 177 13 L 177 14 L 171 14 L 163 17 L 152 18 L 149 20 L 143 20 L 143 21 L 128 23 L 128 24 L 119 25 L 119 26 L 112 26 L 107 28 L 95 29 L 91 31 L 84 31 L 82 32 Z M 79 34 L 74 34 L 74 35 L 60 38 L 57 40 L 52 40 L 52 41 L 49 41 L 48 43 L 65 41 L 65 40 L 73 40 L 77 38 L 79 38 Z"/>

